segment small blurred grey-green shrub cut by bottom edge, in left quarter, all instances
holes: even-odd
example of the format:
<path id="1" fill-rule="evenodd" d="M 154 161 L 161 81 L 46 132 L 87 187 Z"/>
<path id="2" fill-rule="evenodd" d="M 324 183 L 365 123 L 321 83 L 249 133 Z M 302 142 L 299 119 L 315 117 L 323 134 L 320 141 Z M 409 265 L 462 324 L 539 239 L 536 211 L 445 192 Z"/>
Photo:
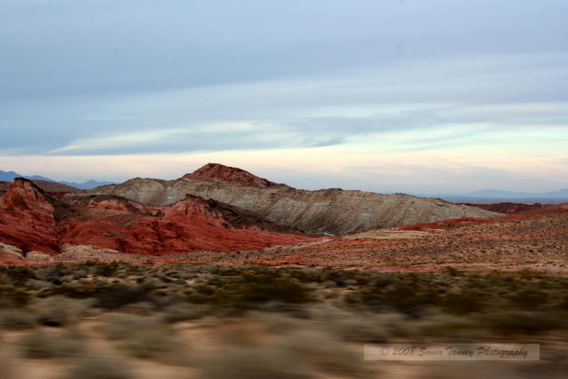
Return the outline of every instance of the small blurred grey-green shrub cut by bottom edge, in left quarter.
<path id="1" fill-rule="evenodd" d="M 126 359 L 107 355 L 90 355 L 75 360 L 68 379 L 132 379 L 130 367 Z"/>

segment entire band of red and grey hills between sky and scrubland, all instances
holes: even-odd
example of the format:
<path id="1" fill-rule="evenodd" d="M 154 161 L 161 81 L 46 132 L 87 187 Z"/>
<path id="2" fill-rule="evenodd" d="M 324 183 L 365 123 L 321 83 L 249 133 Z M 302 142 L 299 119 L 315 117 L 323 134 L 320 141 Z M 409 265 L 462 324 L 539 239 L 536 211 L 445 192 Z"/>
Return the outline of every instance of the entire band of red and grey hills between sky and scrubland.
<path id="1" fill-rule="evenodd" d="M 177 180 L 76 190 L 17 178 L 0 198 L 0 259 L 432 271 L 565 272 L 568 204 L 454 204 L 297 190 L 209 163 Z"/>

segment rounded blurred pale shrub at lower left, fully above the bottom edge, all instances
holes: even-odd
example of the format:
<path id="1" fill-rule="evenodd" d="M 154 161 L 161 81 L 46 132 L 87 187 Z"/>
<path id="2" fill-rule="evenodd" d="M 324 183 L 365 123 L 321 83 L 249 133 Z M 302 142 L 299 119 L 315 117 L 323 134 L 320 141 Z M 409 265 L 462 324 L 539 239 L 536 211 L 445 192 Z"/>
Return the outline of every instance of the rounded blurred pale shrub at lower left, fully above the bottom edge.
<path id="1" fill-rule="evenodd" d="M 151 358 L 178 345 L 173 331 L 160 318 L 114 314 L 107 318 L 106 336 L 116 340 L 131 354 Z"/>

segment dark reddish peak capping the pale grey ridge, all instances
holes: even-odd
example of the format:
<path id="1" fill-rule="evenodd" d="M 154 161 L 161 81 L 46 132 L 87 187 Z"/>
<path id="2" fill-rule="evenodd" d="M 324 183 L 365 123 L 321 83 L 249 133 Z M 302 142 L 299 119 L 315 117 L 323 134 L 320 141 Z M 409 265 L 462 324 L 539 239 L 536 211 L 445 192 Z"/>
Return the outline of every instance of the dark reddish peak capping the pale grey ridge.
<path id="1" fill-rule="evenodd" d="M 219 163 L 207 163 L 201 169 L 194 170 L 191 174 L 185 174 L 183 178 L 203 182 L 225 183 L 231 186 L 289 188 L 286 185 L 259 178 L 248 171 Z"/>

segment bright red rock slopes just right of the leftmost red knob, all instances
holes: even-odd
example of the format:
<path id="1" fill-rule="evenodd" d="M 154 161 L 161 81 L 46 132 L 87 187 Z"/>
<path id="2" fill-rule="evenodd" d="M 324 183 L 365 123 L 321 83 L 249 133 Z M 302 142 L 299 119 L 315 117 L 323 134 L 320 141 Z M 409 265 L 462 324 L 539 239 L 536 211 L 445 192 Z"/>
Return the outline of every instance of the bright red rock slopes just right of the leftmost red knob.
<path id="1" fill-rule="evenodd" d="M 186 196 L 166 207 L 95 196 L 68 199 L 75 217 L 59 223 L 61 243 L 91 245 L 135 254 L 177 254 L 191 250 L 248 250 L 311 241 L 301 235 L 261 229 L 263 220 L 240 216 L 218 203 Z M 231 212 L 233 218 L 225 218 Z"/>

